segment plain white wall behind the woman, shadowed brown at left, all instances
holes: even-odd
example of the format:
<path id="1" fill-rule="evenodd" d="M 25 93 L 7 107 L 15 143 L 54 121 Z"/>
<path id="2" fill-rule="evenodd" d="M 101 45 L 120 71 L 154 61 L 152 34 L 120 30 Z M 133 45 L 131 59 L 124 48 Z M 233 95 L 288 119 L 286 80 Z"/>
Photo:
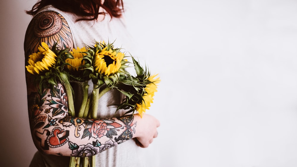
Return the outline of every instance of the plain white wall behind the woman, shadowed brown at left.
<path id="1" fill-rule="evenodd" d="M 297 1 L 126 1 L 132 54 L 159 73 L 154 167 L 297 166 Z M 0 2 L 1 166 L 26 167 L 23 39 L 34 0 Z M 137 158 L 137 157 L 135 157 Z"/>

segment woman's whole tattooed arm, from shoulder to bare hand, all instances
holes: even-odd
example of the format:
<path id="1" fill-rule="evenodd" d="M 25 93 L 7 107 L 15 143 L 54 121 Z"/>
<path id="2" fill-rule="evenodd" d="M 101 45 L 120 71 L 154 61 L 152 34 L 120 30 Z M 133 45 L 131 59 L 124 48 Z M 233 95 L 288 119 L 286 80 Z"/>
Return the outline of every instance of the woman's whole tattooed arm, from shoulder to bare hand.
<path id="1" fill-rule="evenodd" d="M 25 37 L 25 56 L 36 52 L 41 42 L 49 46 L 58 41 L 61 48 L 73 48 L 72 35 L 65 19 L 56 12 L 37 14 Z M 63 156 L 86 157 L 137 138 L 147 147 L 157 137 L 159 121 L 145 114 L 118 118 L 82 119 L 68 116 L 67 94 L 62 84 L 37 91 L 26 73 L 28 111 L 33 141 L 41 152 Z"/>

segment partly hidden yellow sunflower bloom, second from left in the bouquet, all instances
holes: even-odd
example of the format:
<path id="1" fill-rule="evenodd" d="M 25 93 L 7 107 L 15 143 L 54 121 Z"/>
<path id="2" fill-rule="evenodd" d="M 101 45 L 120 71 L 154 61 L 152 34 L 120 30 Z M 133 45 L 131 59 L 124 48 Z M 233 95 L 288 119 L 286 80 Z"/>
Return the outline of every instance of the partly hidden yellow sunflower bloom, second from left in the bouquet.
<path id="1" fill-rule="evenodd" d="M 84 62 L 81 63 L 81 60 L 83 58 L 83 55 L 86 55 L 86 53 L 82 53 L 82 52 L 86 52 L 86 48 L 83 47 L 83 48 L 77 48 L 77 49 L 72 49 L 72 51 L 70 52 L 74 59 L 66 59 L 66 63 L 69 63 L 71 65 L 67 65 L 67 68 L 70 70 L 70 71 L 78 71 L 79 69 L 82 69 L 83 67 L 81 67 L 82 65 L 84 65 Z"/>

